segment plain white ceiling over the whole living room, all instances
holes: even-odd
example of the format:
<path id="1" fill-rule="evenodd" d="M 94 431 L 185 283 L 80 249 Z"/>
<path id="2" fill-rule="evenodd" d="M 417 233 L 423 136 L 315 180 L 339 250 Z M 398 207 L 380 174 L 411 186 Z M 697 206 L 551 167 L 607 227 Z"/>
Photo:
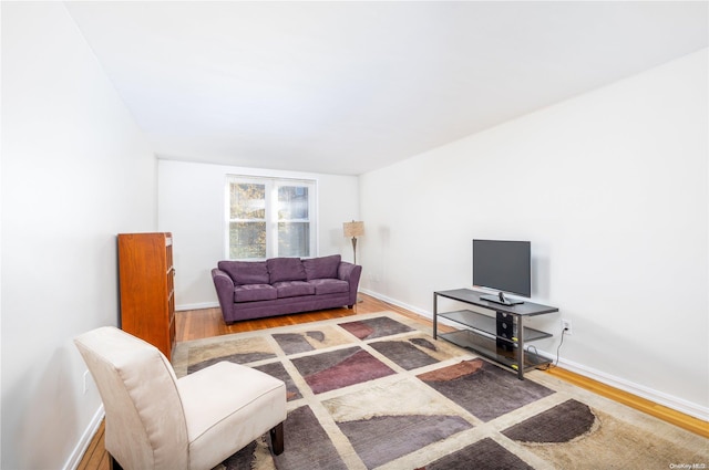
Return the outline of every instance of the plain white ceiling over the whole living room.
<path id="1" fill-rule="evenodd" d="M 708 44 L 707 1 L 68 2 L 162 158 L 359 175 Z"/>

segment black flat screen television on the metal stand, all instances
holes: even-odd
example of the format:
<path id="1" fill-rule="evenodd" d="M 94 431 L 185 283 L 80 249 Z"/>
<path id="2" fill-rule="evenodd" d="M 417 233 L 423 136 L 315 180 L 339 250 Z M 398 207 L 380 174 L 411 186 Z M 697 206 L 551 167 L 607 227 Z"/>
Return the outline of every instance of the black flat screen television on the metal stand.
<path id="1" fill-rule="evenodd" d="M 485 300 L 512 305 L 521 300 L 505 293 L 532 296 L 532 255 L 528 241 L 473 240 L 473 285 L 499 291 Z"/>

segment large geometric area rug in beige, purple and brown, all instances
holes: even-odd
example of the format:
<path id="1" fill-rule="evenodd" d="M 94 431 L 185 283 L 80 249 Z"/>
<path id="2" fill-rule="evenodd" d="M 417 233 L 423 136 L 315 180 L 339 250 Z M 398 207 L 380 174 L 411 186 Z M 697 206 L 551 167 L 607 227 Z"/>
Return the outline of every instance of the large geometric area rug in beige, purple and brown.
<path id="1" fill-rule="evenodd" d="M 709 468 L 709 439 L 424 330 L 393 312 L 332 318 L 178 343 L 173 365 L 286 383 L 284 453 L 266 434 L 219 470 Z"/>

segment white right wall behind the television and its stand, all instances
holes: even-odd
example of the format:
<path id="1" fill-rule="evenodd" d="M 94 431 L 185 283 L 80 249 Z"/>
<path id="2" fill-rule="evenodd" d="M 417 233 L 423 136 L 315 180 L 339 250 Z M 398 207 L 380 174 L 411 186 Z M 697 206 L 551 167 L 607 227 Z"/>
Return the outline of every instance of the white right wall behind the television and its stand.
<path id="1" fill-rule="evenodd" d="M 562 364 L 709 418 L 707 50 L 361 177 L 364 290 L 419 312 L 531 240 Z"/>

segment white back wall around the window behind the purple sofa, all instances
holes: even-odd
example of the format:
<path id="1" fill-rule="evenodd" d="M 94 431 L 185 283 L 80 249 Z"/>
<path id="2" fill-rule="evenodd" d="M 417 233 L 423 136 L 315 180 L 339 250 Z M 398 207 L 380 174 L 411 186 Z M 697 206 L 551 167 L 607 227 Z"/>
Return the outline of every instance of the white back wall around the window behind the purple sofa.
<path id="1" fill-rule="evenodd" d="M 352 259 L 342 222 L 359 217 L 358 178 L 158 160 L 158 227 L 174 238 L 178 310 L 217 306 L 212 269 L 225 259 L 227 175 L 257 175 L 317 181 L 318 254 Z"/>

